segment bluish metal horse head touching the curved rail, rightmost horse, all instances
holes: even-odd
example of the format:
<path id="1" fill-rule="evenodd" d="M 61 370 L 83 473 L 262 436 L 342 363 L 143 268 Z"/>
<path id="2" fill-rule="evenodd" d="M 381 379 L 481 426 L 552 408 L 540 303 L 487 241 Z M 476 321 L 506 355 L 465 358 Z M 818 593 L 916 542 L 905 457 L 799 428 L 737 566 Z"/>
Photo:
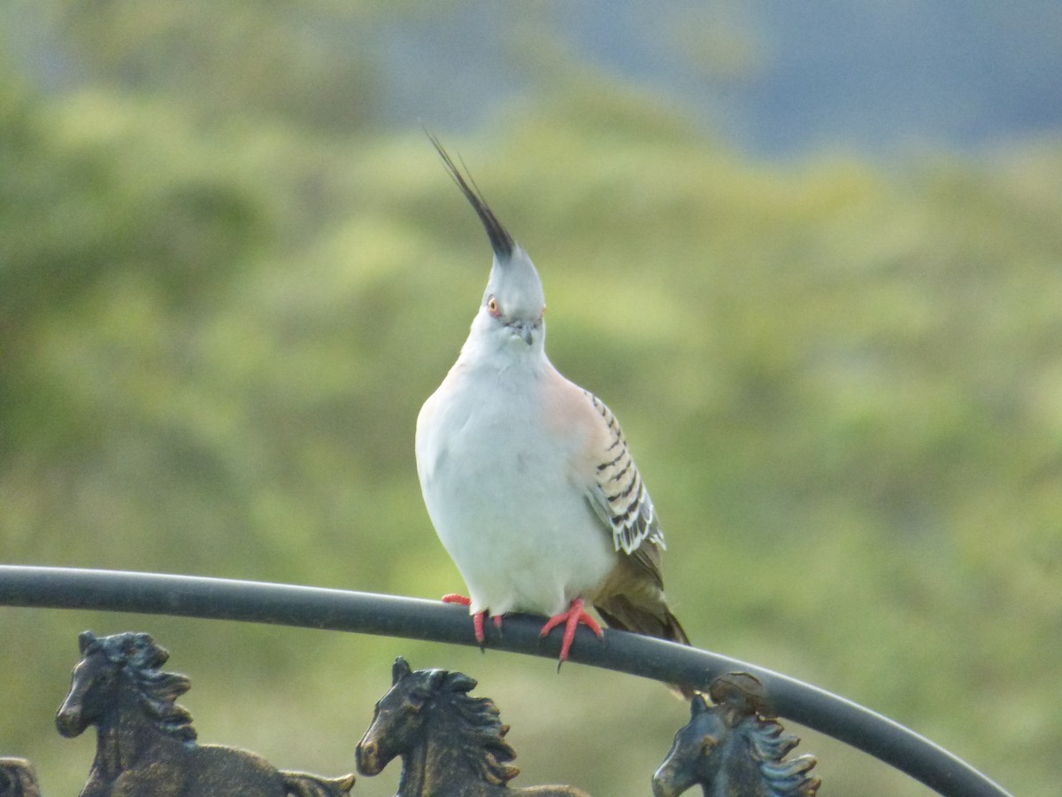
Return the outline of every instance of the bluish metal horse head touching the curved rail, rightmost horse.
<path id="1" fill-rule="evenodd" d="M 763 688 L 746 673 L 717 678 L 690 705 L 689 724 L 674 734 L 671 751 L 653 775 L 654 797 L 678 797 L 701 784 L 704 797 L 815 797 L 819 778 L 808 775 L 813 756 L 783 761 L 800 740 L 782 732 L 769 714 Z"/>

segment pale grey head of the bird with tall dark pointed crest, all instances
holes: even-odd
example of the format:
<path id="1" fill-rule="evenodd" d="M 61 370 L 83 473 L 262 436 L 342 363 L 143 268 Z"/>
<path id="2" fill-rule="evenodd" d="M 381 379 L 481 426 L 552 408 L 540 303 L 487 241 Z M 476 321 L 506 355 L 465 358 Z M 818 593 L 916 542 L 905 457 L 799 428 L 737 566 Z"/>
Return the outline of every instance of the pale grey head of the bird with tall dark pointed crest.
<path id="1" fill-rule="evenodd" d="M 542 279 L 527 252 L 509 234 L 483 201 L 482 196 L 469 186 L 453 160 L 439 141 L 431 137 L 450 176 L 472 204 L 494 250 L 491 277 L 483 292 L 479 312 L 473 321 L 473 335 L 497 346 L 514 345 L 517 349 L 543 351 L 546 342 L 546 294 Z M 473 183 L 473 186 L 475 183 Z M 517 345 L 518 344 L 518 345 Z"/>

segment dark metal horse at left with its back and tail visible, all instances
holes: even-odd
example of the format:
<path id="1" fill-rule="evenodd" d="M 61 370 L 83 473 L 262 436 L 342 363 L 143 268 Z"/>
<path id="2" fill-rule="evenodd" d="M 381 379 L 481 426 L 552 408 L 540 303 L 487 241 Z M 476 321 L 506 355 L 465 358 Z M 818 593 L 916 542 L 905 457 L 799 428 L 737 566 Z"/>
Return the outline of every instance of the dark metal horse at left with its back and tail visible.
<path id="1" fill-rule="evenodd" d="M 147 633 L 78 638 L 81 662 L 55 724 L 72 737 L 97 728 L 96 760 L 82 797 L 341 797 L 354 776 L 325 780 L 279 771 L 253 752 L 195 742 L 175 700 L 191 685 L 159 667 L 169 654 Z"/>

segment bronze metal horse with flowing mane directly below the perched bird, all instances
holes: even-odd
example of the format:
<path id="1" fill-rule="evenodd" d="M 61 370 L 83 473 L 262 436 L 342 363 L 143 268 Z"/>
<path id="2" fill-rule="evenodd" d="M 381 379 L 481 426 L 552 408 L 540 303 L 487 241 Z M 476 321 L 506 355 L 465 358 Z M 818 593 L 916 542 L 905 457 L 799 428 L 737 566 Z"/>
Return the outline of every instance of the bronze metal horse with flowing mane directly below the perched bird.
<path id="1" fill-rule="evenodd" d="M 516 752 L 504 741 L 509 726 L 484 697 L 470 697 L 476 681 L 461 673 L 418 669 L 400 656 L 391 690 L 376 703 L 373 722 L 358 743 L 358 771 L 378 775 L 402 759 L 395 797 L 588 797 L 572 786 L 509 788 L 519 774 Z"/>

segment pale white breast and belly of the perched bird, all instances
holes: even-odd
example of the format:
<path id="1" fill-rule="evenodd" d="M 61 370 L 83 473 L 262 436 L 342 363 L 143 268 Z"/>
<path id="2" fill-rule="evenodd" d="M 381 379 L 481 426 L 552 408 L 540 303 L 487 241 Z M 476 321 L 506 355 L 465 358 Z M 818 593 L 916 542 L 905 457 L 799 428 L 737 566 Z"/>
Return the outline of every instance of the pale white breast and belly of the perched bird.
<path id="1" fill-rule="evenodd" d="M 573 470 L 585 441 L 547 423 L 543 385 L 541 372 L 477 375 L 459 364 L 417 419 L 424 499 L 472 611 L 556 614 L 616 563 Z"/>

